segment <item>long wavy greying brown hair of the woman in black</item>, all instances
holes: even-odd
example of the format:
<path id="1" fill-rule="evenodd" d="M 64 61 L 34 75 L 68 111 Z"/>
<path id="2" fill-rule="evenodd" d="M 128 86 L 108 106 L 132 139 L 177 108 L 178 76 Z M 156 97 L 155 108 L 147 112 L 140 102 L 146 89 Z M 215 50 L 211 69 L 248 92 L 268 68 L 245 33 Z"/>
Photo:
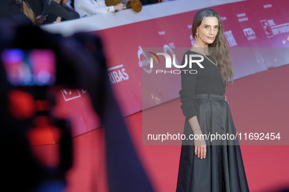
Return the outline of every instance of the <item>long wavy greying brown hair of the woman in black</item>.
<path id="1" fill-rule="evenodd" d="M 212 44 L 208 45 L 208 50 L 211 54 L 211 57 L 217 60 L 220 65 L 220 75 L 225 85 L 228 85 L 229 78 L 231 80 L 231 84 L 233 85 L 233 70 L 229 58 L 228 44 L 225 40 L 223 24 L 221 17 L 219 14 L 213 9 L 201 9 L 198 11 L 194 17 L 192 34 L 194 39 L 197 39 L 197 28 L 200 26 L 201 21 L 205 17 L 216 17 L 219 21 L 219 32 L 215 38 L 215 41 Z M 216 48 L 213 48 L 216 47 Z"/>

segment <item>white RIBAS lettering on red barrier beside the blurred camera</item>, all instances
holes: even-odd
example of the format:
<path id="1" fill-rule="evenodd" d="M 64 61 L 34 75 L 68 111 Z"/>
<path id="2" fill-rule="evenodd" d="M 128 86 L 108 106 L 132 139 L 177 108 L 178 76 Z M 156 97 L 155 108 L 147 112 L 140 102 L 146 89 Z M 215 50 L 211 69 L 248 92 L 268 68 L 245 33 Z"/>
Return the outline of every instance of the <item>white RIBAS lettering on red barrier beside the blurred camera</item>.
<path id="1" fill-rule="evenodd" d="M 108 68 L 109 79 L 111 84 L 117 84 L 129 79 L 123 64 Z"/>

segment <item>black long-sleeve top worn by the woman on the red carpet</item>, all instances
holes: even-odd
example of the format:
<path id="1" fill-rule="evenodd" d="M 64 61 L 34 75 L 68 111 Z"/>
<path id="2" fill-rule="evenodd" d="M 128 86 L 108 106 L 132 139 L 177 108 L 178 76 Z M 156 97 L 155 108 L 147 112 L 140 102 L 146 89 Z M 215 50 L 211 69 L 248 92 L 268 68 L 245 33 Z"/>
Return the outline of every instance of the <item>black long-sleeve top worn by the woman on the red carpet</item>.
<path id="1" fill-rule="evenodd" d="M 182 60 L 182 65 L 185 63 L 185 57 L 187 57 L 187 66 L 183 70 L 197 70 L 191 71 L 189 73 L 186 71 L 181 72 L 181 90 L 179 91 L 180 102 L 182 103 L 181 109 L 186 119 L 190 119 L 199 114 L 199 106 L 195 100 L 195 95 L 200 93 L 224 95 L 225 94 L 225 84 L 222 81 L 221 75 L 219 74 L 220 65 L 217 66 L 212 64 L 206 57 L 200 62 L 204 68 L 196 63 L 192 64 L 192 68 L 189 68 L 189 55 L 200 53 L 194 51 L 187 51 Z M 208 55 L 206 55 L 211 61 L 215 63 L 214 60 Z M 199 57 L 194 57 L 195 60 L 200 60 Z"/>

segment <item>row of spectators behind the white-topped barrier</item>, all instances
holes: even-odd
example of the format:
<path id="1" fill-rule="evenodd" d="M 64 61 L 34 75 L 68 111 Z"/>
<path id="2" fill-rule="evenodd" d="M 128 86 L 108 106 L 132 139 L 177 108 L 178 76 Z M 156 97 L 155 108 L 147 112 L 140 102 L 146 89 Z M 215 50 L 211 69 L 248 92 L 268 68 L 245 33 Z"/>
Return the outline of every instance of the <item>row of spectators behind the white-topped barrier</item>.
<path id="1" fill-rule="evenodd" d="M 77 8 L 75 9 L 74 7 L 74 1 L 75 0 L 0 0 L 0 18 L 26 24 L 42 25 L 102 13 L 101 11 L 96 11 L 91 14 L 78 13 Z M 81 1 L 80 3 L 85 3 L 85 0 L 79 1 Z M 115 5 L 112 4 L 112 6 L 109 6 L 111 5 L 111 1 L 115 2 Z M 93 0 L 91 7 L 94 7 L 94 10 L 104 8 L 105 12 L 114 12 L 126 8 L 133 8 L 134 11 L 139 12 L 142 5 L 164 1 L 167 0 Z M 130 7 L 126 7 L 128 2 L 131 4 Z M 133 5 L 137 7 L 134 8 Z M 105 8 L 107 8 L 107 10 Z M 88 10 L 88 12 L 89 11 L 90 10 Z"/>

